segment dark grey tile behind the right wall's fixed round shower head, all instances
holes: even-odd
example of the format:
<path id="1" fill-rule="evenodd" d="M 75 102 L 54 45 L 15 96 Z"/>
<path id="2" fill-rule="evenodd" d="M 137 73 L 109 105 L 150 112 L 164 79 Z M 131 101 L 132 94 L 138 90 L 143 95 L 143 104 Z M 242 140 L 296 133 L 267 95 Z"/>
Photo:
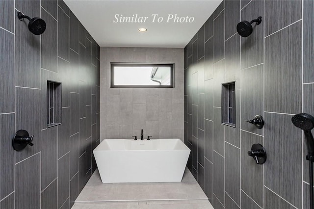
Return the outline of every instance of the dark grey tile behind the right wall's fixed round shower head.
<path id="1" fill-rule="evenodd" d="M 263 12 L 264 1 L 253 0 L 241 10 L 241 21 L 254 20 L 259 16 L 263 16 Z M 241 69 L 263 62 L 263 25 L 264 21 L 260 25 L 254 26 L 254 30 L 249 37 L 241 37 Z"/>

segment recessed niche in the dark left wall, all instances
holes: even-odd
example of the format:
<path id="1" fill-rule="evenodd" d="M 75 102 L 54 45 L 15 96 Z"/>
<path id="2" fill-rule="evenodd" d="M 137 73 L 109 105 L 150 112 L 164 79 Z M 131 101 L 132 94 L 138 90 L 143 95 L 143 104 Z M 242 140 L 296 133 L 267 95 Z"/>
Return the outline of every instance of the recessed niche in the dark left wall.
<path id="1" fill-rule="evenodd" d="M 47 80 L 47 128 L 61 124 L 61 83 Z"/>

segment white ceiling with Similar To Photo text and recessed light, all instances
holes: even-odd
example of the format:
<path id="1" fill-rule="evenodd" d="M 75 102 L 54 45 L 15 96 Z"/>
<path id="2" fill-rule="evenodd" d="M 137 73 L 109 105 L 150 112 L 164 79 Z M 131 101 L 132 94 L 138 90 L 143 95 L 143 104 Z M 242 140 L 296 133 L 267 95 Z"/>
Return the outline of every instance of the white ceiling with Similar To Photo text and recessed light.
<path id="1" fill-rule="evenodd" d="M 64 0 L 101 47 L 184 48 L 222 0 Z M 148 17 L 145 23 L 114 23 L 115 15 Z M 163 17 L 153 23 L 153 14 Z M 167 23 L 168 15 L 194 17 Z M 137 31 L 146 27 L 145 33 Z"/>

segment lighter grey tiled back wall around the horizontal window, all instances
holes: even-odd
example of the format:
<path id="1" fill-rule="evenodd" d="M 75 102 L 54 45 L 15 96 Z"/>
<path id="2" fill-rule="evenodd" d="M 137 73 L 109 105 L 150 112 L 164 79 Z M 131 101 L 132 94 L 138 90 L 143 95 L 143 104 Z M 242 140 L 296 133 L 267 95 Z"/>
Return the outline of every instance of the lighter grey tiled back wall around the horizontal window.
<path id="1" fill-rule="evenodd" d="M 100 134 L 184 138 L 184 50 L 101 47 Z M 110 62 L 175 63 L 175 88 L 110 88 Z"/>

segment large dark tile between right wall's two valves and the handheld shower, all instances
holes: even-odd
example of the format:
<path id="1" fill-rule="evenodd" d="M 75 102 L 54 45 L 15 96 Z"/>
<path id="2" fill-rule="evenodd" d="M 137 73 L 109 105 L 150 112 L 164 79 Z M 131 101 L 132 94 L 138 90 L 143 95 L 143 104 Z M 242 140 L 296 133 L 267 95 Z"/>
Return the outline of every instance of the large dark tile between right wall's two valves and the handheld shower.
<path id="1" fill-rule="evenodd" d="M 267 139 L 264 146 L 269 159 L 265 164 L 265 186 L 299 208 L 302 202 L 301 130 L 291 123 L 291 115 L 265 113 L 265 121 L 269 121 L 264 128 Z"/>

